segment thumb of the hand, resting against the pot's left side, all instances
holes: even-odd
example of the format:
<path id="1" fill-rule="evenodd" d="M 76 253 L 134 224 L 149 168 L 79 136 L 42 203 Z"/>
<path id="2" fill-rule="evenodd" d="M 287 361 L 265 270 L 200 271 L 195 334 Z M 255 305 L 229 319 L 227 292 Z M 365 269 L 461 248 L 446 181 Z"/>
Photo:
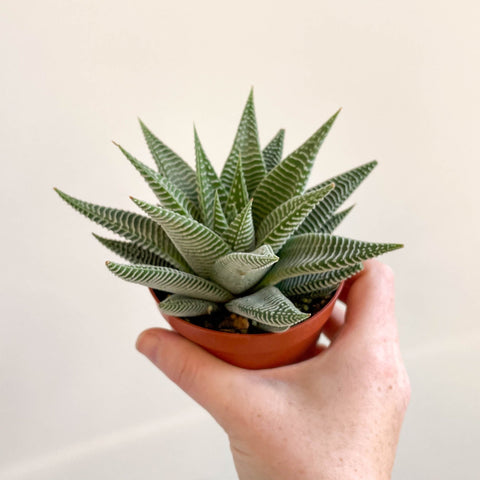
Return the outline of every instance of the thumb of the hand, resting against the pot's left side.
<path id="1" fill-rule="evenodd" d="M 208 353 L 176 332 L 151 328 L 140 334 L 136 347 L 170 380 L 217 420 L 232 398 L 241 369 Z"/>

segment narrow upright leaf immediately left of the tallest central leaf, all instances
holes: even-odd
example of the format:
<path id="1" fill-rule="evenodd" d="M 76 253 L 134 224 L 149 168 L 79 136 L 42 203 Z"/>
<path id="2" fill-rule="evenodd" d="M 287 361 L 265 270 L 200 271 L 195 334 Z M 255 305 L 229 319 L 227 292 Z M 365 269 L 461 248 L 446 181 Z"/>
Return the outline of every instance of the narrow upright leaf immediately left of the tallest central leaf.
<path id="1" fill-rule="evenodd" d="M 212 228 L 215 215 L 215 192 L 218 192 L 222 203 L 226 202 L 227 195 L 223 185 L 215 173 L 215 170 L 212 167 L 212 164 L 210 163 L 210 160 L 203 150 L 196 129 L 194 129 L 194 135 L 198 200 L 200 203 L 200 210 L 202 212 L 203 223 L 208 228 Z"/>

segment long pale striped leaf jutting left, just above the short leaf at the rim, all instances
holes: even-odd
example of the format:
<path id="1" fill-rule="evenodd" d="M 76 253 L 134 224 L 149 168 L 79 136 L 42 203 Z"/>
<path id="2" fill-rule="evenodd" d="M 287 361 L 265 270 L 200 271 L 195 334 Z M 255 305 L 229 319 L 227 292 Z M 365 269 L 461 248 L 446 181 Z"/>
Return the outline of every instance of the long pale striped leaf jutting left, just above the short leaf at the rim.
<path id="1" fill-rule="evenodd" d="M 231 293 L 220 285 L 174 268 L 115 262 L 107 262 L 106 265 L 113 274 L 127 282 L 164 292 L 179 293 L 212 302 L 226 302 L 232 298 Z"/>

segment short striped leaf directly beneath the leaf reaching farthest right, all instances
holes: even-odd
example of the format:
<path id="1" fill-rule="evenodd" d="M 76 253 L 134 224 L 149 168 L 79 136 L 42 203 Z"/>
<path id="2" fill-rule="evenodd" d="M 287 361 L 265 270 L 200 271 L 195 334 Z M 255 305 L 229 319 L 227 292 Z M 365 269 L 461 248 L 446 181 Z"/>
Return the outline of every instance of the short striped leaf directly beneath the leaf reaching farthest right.
<path id="1" fill-rule="evenodd" d="M 282 280 L 276 286 L 285 295 L 318 294 L 335 290 L 338 285 L 347 278 L 352 277 L 363 269 L 362 263 L 356 263 L 351 267 L 329 270 L 325 273 L 314 275 L 300 275 L 298 277 Z"/>

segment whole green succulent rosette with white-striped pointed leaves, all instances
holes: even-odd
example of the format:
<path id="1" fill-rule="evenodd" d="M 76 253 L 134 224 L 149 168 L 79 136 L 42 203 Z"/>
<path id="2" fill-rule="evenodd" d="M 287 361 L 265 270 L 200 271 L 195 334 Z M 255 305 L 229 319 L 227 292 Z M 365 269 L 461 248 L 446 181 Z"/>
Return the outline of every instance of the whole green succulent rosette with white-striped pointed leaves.
<path id="1" fill-rule="evenodd" d="M 253 91 L 220 176 L 196 130 L 196 169 L 140 121 L 152 169 L 117 145 L 158 204 L 136 198 L 146 215 L 87 203 L 55 189 L 77 211 L 124 237 L 95 235 L 128 264 L 107 262 L 118 277 L 161 292 L 160 310 L 189 318 L 230 313 L 265 331 L 310 316 L 297 297 L 335 291 L 362 261 L 402 245 L 332 234 L 352 207 L 338 210 L 376 166 L 372 161 L 306 189 L 315 157 L 339 112 L 282 160 L 284 130 L 260 148 Z"/>

